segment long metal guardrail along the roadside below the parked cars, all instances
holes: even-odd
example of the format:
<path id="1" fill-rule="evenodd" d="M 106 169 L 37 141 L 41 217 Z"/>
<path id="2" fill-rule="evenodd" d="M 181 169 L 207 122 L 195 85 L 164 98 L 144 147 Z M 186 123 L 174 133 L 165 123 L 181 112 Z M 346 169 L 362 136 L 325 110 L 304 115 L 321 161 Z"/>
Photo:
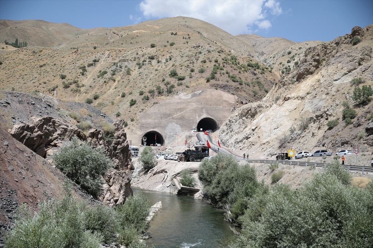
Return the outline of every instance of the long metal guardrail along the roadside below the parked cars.
<path id="1" fill-rule="evenodd" d="M 314 168 L 326 168 L 327 164 L 324 163 L 311 163 L 311 162 L 299 162 L 299 161 L 292 161 L 292 160 L 248 160 L 248 163 L 263 163 L 263 164 L 283 164 L 283 165 L 297 165 L 297 166 L 305 166 L 307 167 L 314 167 Z M 342 167 L 346 168 L 348 172 L 350 171 L 361 171 L 361 174 L 365 173 L 373 173 L 373 167 L 371 166 L 356 166 L 356 165 L 341 165 Z"/>

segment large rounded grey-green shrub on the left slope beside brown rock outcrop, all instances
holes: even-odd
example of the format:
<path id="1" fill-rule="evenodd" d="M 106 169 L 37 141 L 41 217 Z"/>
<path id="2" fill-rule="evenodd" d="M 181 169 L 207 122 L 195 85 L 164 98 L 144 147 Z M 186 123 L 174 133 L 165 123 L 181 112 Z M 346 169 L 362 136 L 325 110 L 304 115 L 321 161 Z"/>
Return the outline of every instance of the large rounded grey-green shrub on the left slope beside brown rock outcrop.
<path id="1" fill-rule="evenodd" d="M 61 146 L 53 155 L 53 161 L 63 174 L 95 198 L 103 192 L 101 174 L 112 166 L 101 149 L 94 149 L 78 138 Z"/>

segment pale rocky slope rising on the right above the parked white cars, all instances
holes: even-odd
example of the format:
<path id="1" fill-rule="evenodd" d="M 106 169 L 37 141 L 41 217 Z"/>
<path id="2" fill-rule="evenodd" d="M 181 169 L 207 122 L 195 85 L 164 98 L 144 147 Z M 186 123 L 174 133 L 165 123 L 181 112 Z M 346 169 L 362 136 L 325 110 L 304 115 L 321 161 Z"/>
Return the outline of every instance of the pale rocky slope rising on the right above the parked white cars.
<path id="1" fill-rule="evenodd" d="M 370 165 L 372 98 L 358 104 L 352 96 L 354 87 L 372 86 L 372 39 L 373 25 L 355 27 L 350 34 L 307 48 L 297 68 L 284 73 L 266 97 L 229 117 L 219 130 L 222 143 L 269 159 L 290 148 L 335 154 L 358 147 L 362 163 Z M 353 113 L 351 121 L 345 120 L 345 109 Z"/>

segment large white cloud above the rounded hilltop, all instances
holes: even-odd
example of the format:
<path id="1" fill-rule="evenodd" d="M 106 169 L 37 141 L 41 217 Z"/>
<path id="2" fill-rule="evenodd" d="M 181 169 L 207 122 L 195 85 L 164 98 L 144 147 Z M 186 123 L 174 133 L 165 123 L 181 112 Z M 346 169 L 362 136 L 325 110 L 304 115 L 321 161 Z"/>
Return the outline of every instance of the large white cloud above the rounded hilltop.
<path id="1" fill-rule="evenodd" d="M 269 29 L 272 25 L 263 7 L 272 15 L 282 12 L 280 4 L 274 0 L 144 0 L 139 5 L 147 18 L 188 16 L 209 22 L 232 35 L 250 33 L 252 28 Z"/>

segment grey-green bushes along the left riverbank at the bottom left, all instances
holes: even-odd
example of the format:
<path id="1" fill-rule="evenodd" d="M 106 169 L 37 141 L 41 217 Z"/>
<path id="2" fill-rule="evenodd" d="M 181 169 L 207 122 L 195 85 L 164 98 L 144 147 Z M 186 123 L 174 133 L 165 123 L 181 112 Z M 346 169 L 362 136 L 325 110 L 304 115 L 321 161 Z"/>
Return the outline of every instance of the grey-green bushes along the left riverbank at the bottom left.
<path id="1" fill-rule="evenodd" d="M 18 208 L 14 228 L 5 233 L 5 247 L 75 247 L 97 248 L 101 244 L 118 242 L 131 248 L 147 248 L 141 242 L 146 231 L 150 202 L 143 195 L 127 198 L 117 209 L 79 202 L 64 183 L 65 196 L 38 204 L 32 213 L 26 204 Z"/>

